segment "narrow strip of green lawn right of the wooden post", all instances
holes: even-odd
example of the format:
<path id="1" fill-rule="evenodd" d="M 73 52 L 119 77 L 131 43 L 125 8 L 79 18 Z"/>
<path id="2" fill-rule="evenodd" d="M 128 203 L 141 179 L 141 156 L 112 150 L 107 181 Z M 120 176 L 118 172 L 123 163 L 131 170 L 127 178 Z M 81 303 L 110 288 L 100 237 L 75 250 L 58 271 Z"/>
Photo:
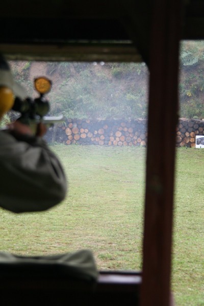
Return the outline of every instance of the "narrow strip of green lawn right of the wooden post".
<path id="1" fill-rule="evenodd" d="M 176 156 L 172 287 L 176 306 L 204 305 L 204 149 Z"/>

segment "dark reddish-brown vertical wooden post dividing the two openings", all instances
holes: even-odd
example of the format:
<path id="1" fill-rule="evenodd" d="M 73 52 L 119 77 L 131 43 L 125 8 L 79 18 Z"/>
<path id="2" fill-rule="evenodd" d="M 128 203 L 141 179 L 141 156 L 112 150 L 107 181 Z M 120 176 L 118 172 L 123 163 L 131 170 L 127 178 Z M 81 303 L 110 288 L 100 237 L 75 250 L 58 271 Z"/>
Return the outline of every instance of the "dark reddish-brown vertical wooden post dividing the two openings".
<path id="1" fill-rule="evenodd" d="M 141 306 L 169 306 L 180 0 L 152 1 Z"/>

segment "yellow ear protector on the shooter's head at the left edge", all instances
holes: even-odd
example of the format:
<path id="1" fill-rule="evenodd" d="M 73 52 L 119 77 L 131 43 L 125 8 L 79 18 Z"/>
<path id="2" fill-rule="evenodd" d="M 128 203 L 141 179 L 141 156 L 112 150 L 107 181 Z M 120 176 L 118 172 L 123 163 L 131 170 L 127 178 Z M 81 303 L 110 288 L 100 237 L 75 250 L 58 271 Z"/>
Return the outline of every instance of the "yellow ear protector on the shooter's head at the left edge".
<path id="1" fill-rule="evenodd" d="M 14 95 L 10 88 L 0 86 L 0 117 L 12 109 L 14 104 Z"/>

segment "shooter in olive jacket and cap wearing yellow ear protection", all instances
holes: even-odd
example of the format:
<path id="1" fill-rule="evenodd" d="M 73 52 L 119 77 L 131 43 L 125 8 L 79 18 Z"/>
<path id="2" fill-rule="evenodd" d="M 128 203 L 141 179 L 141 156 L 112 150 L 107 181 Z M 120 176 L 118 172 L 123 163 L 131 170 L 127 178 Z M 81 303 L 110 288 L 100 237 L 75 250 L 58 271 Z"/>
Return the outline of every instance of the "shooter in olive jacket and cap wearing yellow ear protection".
<path id="1" fill-rule="evenodd" d="M 15 96 L 24 98 L 23 89 L 0 57 L 0 120 L 12 108 Z M 43 211 L 65 198 L 66 176 L 42 139 L 45 133 L 42 123 L 34 135 L 29 125 L 19 121 L 0 131 L 0 207 L 15 213 Z"/>

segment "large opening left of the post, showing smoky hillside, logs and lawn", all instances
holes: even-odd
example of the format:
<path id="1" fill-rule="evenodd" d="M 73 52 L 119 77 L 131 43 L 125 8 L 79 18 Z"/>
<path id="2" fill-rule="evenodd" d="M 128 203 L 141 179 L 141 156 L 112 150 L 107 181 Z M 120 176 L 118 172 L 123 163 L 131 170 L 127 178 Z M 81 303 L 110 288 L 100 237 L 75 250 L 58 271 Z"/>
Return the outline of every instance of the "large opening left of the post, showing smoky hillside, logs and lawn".
<path id="1" fill-rule="evenodd" d="M 48 254 L 90 248 L 99 269 L 141 269 L 148 70 L 144 63 L 10 61 L 30 96 L 52 81 L 45 139 L 67 173 L 66 200 L 49 211 L 1 209 L 2 250 Z M 10 112 L 5 122 L 14 120 Z M 4 122 L 4 123 L 5 123 Z M 32 196 L 32 195 L 31 195 Z"/>

